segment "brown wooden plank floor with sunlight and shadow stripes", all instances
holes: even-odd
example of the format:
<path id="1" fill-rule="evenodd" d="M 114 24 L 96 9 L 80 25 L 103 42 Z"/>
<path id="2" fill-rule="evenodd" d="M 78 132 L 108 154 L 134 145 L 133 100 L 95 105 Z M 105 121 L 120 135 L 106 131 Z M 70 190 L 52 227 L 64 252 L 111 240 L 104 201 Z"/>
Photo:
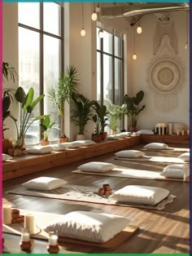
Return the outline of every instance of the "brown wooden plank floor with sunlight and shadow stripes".
<path id="1" fill-rule="evenodd" d="M 173 145 L 169 145 L 173 146 Z M 139 148 L 137 145 L 132 148 Z M 141 145 L 142 147 L 142 145 Z M 183 145 L 179 147 L 184 148 Z M 181 153 L 179 153 L 181 154 Z M 140 227 L 129 241 L 124 242 L 119 248 L 111 253 L 169 253 L 169 254 L 189 254 L 189 183 L 173 182 L 173 181 L 155 181 L 144 179 L 125 179 L 107 177 L 101 175 L 84 175 L 72 174 L 72 170 L 76 170 L 77 166 L 87 162 L 88 160 L 78 161 L 73 164 L 65 166 L 58 166 L 50 170 L 43 170 L 38 173 L 28 174 L 24 177 L 11 179 L 3 182 L 3 197 L 9 201 L 15 208 L 26 210 L 37 210 L 43 212 L 50 212 L 55 214 L 67 214 L 74 210 L 85 210 L 94 212 L 105 212 L 108 214 L 118 214 L 128 217 L 132 220 L 132 224 Z M 130 168 L 138 169 L 137 162 L 124 162 L 114 160 L 114 152 L 107 153 L 100 157 L 94 157 L 89 161 L 110 161 L 117 165 L 128 166 Z M 141 163 L 140 163 L 141 164 Z M 164 164 L 143 162 L 143 168 L 146 170 L 162 169 Z M 150 169 L 149 169 L 150 168 Z M 141 169 L 141 168 L 140 168 Z M 157 170 L 156 169 L 156 170 Z M 167 188 L 173 195 L 177 196 L 175 200 L 165 206 L 164 210 L 141 210 L 137 208 L 129 208 L 123 206 L 112 205 L 98 205 L 93 203 L 83 203 L 76 201 L 62 201 L 56 199 L 38 198 L 33 196 L 19 196 L 6 193 L 8 190 L 17 187 L 20 183 L 24 183 L 29 179 L 37 178 L 39 176 L 50 176 L 65 179 L 71 184 L 81 184 L 87 186 L 94 186 L 101 188 L 103 183 L 110 183 L 111 188 L 118 189 L 129 184 L 139 184 L 147 186 L 155 186 L 160 188 Z M 5 244 L 3 251 L 9 253 L 20 253 L 18 236 L 11 236 L 4 234 Z M 33 241 L 32 253 L 46 253 L 46 241 Z M 103 253 L 99 249 L 82 247 L 80 245 L 61 245 L 62 253 Z"/>

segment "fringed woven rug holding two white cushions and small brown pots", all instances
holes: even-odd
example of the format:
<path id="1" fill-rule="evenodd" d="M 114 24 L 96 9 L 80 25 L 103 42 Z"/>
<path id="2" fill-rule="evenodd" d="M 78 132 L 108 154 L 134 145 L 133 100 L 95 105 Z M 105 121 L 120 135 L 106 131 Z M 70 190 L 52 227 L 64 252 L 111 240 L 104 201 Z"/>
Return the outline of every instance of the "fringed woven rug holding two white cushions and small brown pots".
<path id="1" fill-rule="evenodd" d="M 114 191 L 113 191 L 114 192 Z M 103 205 L 116 205 L 116 206 L 126 206 L 126 207 L 137 207 L 153 210 L 163 210 L 165 205 L 171 203 L 175 196 L 168 196 L 164 201 L 159 202 L 158 205 L 138 205 L 138 204 L 124 204 L 116 201 L 111 201 L 109 196 L 98 195 L 98 188 L 85 187 L 85 186 L 72 186 L 66 184 L 64 188 L 57 188 L 51 191 L 39 191 L 39 190 L 29 190 L 20 186 L 20 188 L 15 188 L 8 193 L 24 195 L 24 196 L 37 196 L 46 198 L 55 198 L 66 201 L 81 201 L 89 202 L 94 204 Z"/>

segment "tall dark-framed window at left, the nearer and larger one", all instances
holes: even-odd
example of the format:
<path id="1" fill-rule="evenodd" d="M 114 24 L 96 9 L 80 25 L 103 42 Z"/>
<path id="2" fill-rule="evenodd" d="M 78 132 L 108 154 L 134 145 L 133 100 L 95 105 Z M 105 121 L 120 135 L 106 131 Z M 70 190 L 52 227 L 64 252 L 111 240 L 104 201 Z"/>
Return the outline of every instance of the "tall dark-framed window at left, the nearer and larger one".
<path id="1" fill-rule="evenodd" d="M 63 70 L 63 7 L 54 2 L 19 2 L 19 76 L 20 86 L 28 91 L 33 86 L 35 96 L 47 94 L 47 88 L 58 83 Z M 57 109 L 45 96 L 33 112 L 33 118 L 50 114 L 57 124 L 50 140 L 59 138 Z M 25 143 L 39 143 L 39 121 L 28 129 Z"/>

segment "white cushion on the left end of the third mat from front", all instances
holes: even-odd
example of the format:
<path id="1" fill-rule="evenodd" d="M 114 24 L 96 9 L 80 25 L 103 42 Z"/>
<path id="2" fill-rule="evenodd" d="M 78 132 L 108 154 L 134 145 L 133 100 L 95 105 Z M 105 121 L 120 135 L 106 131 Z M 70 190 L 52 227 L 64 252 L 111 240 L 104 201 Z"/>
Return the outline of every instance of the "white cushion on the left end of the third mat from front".
<path id="1" fill-rule="evenodd" d="M 103 161 L 89 161 L 88 163 L 77 167 L 77 169 L 81 171 L 104 173 L 115 167 L 115 165 Z"/>

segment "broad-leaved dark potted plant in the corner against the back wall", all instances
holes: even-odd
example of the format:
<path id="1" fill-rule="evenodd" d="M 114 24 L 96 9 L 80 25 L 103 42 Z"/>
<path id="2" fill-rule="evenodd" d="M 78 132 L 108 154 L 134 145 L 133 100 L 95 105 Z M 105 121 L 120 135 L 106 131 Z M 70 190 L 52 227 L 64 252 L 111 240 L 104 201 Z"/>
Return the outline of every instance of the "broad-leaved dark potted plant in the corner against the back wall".
<path id="1" fill-rule="evenodd" d="M 137 120 L 139 114 L 142 112 L 146 105 L 140 106 L 142 99 L 144 97 L 144 91 L 140 90 L 137 92 L 136 96 L 130 97 L 129 95 L 124 95 L 124 103 L 126 104 L 127 114 L 131 121 L 130 131 L 137 130 Z"/>

